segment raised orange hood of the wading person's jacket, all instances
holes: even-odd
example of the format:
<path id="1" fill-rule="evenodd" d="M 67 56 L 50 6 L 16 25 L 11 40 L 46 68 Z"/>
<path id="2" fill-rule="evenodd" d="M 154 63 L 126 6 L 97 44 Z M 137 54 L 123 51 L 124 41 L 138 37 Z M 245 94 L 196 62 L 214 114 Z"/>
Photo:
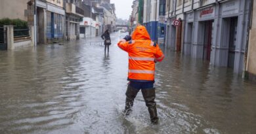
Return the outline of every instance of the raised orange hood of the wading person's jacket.
<path id="1" fill-rule="evenodd" d="M 143 25 L 139 25 L 136 27 L 135 31 L 133 32 L 131 39 L 133 39 L 133 40 L 141 40 L 141 39 L 150 40 L 150 35 L 148 34 L 148 31 L 146 31 L 146 27 L 144 27 Z"/>

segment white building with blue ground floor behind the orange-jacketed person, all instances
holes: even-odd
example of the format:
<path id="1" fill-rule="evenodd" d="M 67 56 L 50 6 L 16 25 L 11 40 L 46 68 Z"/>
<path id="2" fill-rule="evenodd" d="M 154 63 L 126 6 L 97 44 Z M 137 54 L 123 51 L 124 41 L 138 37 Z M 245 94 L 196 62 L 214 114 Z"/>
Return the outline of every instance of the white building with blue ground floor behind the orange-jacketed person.
<path id="1" fill-rule="evenodd" d="M 153 41 L 158 42 L 165 37 L 165 3 L 165 0 L 143 1 L 143 25 Z"/>

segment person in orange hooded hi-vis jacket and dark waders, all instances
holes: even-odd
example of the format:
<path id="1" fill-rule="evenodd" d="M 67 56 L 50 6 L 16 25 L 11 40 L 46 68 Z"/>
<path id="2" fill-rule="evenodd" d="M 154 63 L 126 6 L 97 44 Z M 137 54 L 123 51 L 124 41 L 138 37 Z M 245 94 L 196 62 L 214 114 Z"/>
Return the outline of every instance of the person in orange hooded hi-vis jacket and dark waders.
<path id="1" fill-rule="evenodd" d="M 151 122 L 157 124 L 158 114 L 154 101 L 156 97 L 154 88 L 155 63 L 162 61 L 164 55 L 158 44 L 150 40 L 146 27 L 142 25 L 137 26 L 131 39 L 129 39 L 129 36 L 125 37 L 117 44 L 119 48 L 129 54 L 128 80 L 130 82 L 125 93 L 124 113 L 126 115 L 130 114 L 133 101 L 141 90 L 150 113 Z"/>

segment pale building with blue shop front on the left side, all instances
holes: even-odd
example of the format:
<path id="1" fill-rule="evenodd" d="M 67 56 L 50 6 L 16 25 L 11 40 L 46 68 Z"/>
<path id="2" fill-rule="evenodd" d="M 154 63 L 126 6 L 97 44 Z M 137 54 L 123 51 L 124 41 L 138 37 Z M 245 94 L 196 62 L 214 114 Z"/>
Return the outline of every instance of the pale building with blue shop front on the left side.
<path id="1" fill-rule="evenodd" d="M 36 0 L 37 44 L 64 39 L 65 10 L 63 0 Z"/>

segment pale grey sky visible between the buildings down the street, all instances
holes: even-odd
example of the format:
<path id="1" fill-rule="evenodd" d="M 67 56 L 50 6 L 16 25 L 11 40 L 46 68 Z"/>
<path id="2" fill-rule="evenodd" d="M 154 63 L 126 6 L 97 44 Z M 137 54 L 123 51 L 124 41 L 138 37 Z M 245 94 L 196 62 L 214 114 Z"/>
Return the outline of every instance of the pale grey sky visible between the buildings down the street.
<path id="1" fill-rule="evenodd" d="M 110 3 L 116 5 L 116 16 L 117 18 L 129 19 L 131 15 L 131 5 L 133 5 L 133 0 L 110 0 Z"/>

